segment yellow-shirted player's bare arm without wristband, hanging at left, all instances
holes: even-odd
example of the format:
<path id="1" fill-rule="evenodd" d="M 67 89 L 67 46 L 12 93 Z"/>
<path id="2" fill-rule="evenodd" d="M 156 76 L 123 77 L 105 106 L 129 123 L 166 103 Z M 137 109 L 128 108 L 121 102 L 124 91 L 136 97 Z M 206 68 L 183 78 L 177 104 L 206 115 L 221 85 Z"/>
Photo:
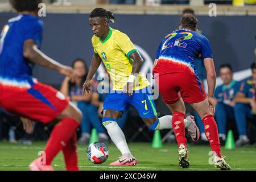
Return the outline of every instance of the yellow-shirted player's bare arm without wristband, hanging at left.
<path id="1" fill-rule="evenodd" d="M 100 67 L 101 64 L 101 57 L 99 55 L 94 54 L 92 63 L 90 64 L 90 68 L 88 71 L 88 75 L 86 77 L 86 80 L 84 82 L 84 85 L 82 86 L 82 95 L 88 95 L 91 92 L 90 85 L 93 75 L 96 73 L 98 67 Z"/>

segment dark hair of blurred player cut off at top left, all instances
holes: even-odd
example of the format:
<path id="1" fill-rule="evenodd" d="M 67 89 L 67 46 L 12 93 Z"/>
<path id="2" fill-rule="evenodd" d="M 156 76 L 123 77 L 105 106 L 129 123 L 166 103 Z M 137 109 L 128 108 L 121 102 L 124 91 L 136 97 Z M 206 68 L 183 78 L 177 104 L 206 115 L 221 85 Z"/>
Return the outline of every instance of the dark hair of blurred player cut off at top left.
<path id="1" fill-rule="evenodd" d="M 42 0 L 10 0 L 11 6 L 18 12 L 39 10 L 40 3 Z"/>

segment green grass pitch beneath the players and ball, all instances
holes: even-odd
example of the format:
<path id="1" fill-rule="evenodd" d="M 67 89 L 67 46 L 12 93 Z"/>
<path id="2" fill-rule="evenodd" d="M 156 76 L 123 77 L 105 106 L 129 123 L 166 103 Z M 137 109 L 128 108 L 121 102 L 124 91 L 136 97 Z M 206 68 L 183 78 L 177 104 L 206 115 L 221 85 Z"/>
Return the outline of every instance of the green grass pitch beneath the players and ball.
<path id="1" fill-rule="evenodd" d="M 0 170 L 28 170 L 28 164 L 38 158 L 38 152 L 43 150 L 45 142 L 34 142 L 31 146 L 0 142 Z M 188 146 L 190 167 L 182 169 L 178 165 L 176 144 L 164 144 L 163 148 L 153 149 L 150 143 L 129 143 L 130 150 L 137 158 L 137 166 L 109 166 L 110 162 L 117 160 L 119 151 L 113 144 L 108 144 L 109 158 L 103 164 L 92 164 L 86 158 L 88 145 L 79 146 L 80 170 L 219 170 L 209 165 L 209 146 Z M 225 150 L 226 162 L 232 170 L 256 170 L 256 147 L 245 146 L 235 150 Z M 52 162 L 55 170 L 65 170 L 63 154 L 60 152 Z"/>

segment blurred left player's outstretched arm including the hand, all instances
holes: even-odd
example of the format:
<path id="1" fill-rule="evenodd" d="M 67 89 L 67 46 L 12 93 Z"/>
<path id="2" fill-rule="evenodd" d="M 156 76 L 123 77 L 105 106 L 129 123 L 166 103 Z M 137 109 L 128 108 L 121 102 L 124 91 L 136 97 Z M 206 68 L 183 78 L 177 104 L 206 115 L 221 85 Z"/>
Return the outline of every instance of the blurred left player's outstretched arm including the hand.
<path id="1" fill-rule="evenodd" d="M 51 57 L 45 55 L 38 49 L 36 43 L 32 39 L 28 39 L 24 42 L 23 56 L 33 63 L 39 64 L 49 69 L 54 69 L 57 72 L 70 77 L 72 81 L 75 80 L 76 74 L 73 68 L 60 64 L 57 61 L 51 59 Z"/>

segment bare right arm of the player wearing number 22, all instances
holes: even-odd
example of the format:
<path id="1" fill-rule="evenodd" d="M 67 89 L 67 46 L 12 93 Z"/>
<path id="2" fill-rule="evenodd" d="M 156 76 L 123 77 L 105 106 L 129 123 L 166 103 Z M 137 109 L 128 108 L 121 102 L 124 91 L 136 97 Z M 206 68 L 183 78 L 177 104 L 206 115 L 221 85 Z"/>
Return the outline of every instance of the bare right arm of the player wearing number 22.
<path id="1" fill-rule="evenodd" d="M 208 96 L 213 97 L 216 85 L 216 71 L 212 58 L 204 59 L 204 66 L 207 71 Z"/>

